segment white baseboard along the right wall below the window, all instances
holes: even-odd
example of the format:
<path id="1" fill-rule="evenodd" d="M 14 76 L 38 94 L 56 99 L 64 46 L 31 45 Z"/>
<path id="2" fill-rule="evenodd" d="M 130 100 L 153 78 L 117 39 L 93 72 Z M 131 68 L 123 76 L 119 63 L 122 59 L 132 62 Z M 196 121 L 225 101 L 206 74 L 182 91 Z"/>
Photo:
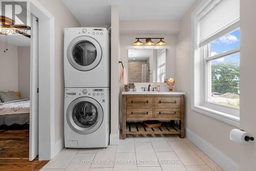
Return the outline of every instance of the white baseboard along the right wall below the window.
<path id="1" fill-rule="evenodd" d="M 209 158 L 221 166 L 225 171 L 239 171 L 239 165 L 223 154 L 207 141 L 199 137 L 195 132 L 185 127 L 186 138 L 200 148 Z"/>

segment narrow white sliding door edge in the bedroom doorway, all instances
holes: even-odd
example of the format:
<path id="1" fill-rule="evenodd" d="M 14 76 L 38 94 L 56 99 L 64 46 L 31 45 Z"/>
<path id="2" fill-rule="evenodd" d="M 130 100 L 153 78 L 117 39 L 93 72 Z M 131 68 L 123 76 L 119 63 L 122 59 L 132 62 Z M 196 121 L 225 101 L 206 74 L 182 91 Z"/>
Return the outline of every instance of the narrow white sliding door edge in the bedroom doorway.
<path id="1" fill-rule="evenodd" d="M 31 15 L 29 160 L 38 155 L 38 20 Z"/>

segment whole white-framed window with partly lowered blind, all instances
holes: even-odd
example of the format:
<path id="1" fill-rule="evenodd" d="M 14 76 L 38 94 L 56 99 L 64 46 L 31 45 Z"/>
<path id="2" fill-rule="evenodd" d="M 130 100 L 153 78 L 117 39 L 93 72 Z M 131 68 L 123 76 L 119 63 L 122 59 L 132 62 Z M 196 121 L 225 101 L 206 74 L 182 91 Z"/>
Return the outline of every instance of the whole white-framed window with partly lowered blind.
<path id="1" fill-rule="evenodd" d="M 239 126 L 239 0 L 203 2 L 193 12 L 192 109 Z"/>

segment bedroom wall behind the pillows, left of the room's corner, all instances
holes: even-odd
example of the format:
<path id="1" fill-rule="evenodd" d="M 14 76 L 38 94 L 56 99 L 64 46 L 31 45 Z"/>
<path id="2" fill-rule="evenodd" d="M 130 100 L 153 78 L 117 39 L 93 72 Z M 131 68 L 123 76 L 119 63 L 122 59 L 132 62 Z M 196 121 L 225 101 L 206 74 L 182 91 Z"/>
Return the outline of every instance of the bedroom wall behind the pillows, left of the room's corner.
<path id="1" fill-rule="evenodd" d="M 4 52 L 5 42 L 0 41 L 0 91 L 18 91 L 18 47 L 8 44 Z"/>

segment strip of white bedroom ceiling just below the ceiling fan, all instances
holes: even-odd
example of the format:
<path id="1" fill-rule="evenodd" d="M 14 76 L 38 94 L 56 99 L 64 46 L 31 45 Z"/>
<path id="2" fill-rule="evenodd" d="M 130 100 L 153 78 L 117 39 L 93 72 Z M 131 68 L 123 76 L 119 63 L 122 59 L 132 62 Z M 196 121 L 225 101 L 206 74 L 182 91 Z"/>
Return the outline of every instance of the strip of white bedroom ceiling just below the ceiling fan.
<path id="1" fill-rule="evenodd" d="M 5 42 L 6 35 L 0 34 L 0 41 Z M 7 42 L 15 46 L 30 46 L 30 39 L 21 34 L 7 35 Z"/>

